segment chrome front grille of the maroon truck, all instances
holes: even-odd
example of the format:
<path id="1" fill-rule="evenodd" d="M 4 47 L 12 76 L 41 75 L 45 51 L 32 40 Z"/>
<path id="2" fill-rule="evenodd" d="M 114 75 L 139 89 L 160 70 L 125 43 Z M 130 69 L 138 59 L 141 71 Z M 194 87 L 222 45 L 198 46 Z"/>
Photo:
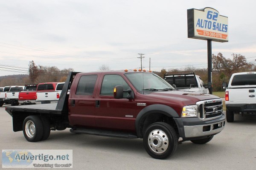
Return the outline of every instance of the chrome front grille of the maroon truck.
<path id="1" fill-rule="evenodd" d="M 198 117 L 203 121 L 215 119 L 222 115 L 222 100 L 212 99 L 197 102 Z"/>

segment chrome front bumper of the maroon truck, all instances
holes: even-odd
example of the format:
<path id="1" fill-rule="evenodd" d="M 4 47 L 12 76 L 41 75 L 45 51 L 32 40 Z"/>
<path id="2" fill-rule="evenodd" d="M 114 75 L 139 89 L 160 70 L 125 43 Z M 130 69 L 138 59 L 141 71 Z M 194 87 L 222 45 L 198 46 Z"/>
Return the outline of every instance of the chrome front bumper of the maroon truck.
<path id="1" fill-rule="evenodd" d="M 193 118 L 174 118 L 180 137 L 183 140 L 203 139 L 220 133 L 225 127 L 225 115 L 218 119 L 201 121 L 197 117 Z"/>

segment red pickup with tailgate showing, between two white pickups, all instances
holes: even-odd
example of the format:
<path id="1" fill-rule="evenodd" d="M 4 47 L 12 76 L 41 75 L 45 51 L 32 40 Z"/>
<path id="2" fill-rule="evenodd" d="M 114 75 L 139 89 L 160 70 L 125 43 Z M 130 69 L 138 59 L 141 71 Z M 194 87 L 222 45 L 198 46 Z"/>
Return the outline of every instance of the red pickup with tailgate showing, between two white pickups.
<path id="1" fill-rule="evenodd" d="M 19 103 L 21 105 L 32 105 L 36 101 L 37 84 L 25 85 L 25 89 L 19 93 Z"/>

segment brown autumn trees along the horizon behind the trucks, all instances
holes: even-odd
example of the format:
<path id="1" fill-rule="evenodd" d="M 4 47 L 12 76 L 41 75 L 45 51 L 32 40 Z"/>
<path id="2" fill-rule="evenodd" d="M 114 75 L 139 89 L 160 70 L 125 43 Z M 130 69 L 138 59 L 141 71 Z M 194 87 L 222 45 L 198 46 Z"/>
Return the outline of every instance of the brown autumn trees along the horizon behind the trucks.
<path id="1" fill-rule="evenodd" d="M 101 65 L 100 71 L 110 70 L 108 65 Z M 22 75 L 20 77 L 10 76 L 0 79 L 0 86 L 7 85 L 25 85 L 30 83 L 41 82 L 65 82 L 67 74 L 74 71 L 73 68 L 58 69 L 56 66 L 42 66 L 36 65 L 32 60 L 29 62 L 29 75 Z M 232 59 L 225 58 L 223 54 L 212 54 L 212 85 L 213 91 L 222 91 L 222 82 L 229 82 L 233 73 L 256 71 L 256 65 L 253 62 L 247 62 L 246 58 L 241 54 L 232 54 Z M 207 68 L 198 69 L 188 66 L 185 69 L 169 69 L 163 68 L 160 72 L 154 72 L 160 77 L 164 74 L 185 74 L 193 73 L 199 75 L 205 84 L 208 82 Z"/>

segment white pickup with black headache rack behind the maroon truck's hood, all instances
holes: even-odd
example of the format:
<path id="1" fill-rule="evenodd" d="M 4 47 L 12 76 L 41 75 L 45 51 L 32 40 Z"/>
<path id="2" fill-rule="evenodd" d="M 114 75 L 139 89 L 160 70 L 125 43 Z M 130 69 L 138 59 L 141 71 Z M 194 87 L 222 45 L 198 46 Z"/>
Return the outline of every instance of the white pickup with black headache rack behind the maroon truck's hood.
<path id="1" fill-rule="evenodd" d="M 165 74 L 164 79 L 177 90 L 209 94 L 200 76 L 193 74 Z"/>

